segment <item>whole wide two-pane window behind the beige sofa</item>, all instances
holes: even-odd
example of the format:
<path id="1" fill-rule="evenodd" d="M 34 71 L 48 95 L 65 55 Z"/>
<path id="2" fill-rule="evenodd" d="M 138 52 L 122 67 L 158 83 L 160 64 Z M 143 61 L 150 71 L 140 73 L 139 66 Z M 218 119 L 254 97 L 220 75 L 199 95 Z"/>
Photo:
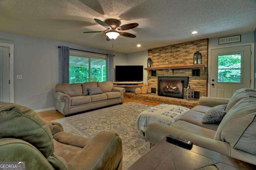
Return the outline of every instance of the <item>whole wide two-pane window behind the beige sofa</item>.
<path id="1" fill-rule="evenodd" d="M 106 56 L 70 52 L 70 83 L 106 81 Z"/>

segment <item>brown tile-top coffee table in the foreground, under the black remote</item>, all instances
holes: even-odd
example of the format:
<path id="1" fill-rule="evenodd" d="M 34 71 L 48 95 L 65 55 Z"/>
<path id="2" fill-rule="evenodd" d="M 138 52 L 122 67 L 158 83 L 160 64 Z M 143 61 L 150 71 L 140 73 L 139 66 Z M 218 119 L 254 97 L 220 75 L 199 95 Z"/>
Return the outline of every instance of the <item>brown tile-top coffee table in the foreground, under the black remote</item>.
<path id="1" fill-rule="evenodd" d="M 215 165 L 215 166 L 210 166 Z M 193 145 L 191 150 L 162 139 L 128 170 L 256 169 L 256 165 Z"/>

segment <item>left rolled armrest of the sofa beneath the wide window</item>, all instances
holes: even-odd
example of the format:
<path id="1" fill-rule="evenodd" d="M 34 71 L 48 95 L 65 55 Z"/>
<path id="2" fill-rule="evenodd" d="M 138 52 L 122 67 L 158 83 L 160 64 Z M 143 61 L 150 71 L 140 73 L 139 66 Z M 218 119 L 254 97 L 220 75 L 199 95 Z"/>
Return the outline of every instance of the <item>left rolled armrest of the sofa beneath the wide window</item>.
<path id="1" fill-rule="evenodd" d="M 68 94 L 62 92 L 53 92 L 52 96 L 55 98 L 54 107 L 56 110 L 64 115 L 69 114 L 69 109 L 71 107 L 71 99 Z"/>

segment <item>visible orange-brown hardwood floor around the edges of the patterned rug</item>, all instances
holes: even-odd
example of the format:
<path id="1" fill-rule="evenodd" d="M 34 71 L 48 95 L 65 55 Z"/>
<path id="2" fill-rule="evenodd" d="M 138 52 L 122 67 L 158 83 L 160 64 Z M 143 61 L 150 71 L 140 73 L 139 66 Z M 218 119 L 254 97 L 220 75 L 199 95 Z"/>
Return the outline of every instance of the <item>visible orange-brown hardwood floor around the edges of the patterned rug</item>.
<path id="1" fill-rule="evenodd" d="M 148 104 L 151 106 L 158 106 L 159 104 L 157 103 L 152 103 L 152 102 L 145 102 L 145 101 L 140 101 L 140 100 L 135 100 L 135 99 L 130 99 L 130 98 L 124 98 L 123 103 L 128 103 L 128 102 L 137 102 L 137 103 L 142 103 L 142 104 Z M 44 111 L 38 113 L 45 121 L 53 121 L 56 119 L 60 119 L 65 117 L 62 113 L 56 110 L 50 110 L 50 111 Z"/>

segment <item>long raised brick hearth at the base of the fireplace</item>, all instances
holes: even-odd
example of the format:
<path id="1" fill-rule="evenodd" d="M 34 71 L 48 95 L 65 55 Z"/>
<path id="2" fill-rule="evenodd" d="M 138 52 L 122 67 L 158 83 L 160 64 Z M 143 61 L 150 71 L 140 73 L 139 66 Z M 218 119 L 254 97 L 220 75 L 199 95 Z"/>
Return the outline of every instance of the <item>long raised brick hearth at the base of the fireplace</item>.
<path id="1" fill-rule="evenodd" d="M 188 107 L 190 109 L 198 105 L 198 101 L 188 102 L 184 99 L 157 96 L 157 94 L 135 94 L 130 92 L 124 92 L 124 97 L 159 104 L 174 104 L 178 106 Z"/>

